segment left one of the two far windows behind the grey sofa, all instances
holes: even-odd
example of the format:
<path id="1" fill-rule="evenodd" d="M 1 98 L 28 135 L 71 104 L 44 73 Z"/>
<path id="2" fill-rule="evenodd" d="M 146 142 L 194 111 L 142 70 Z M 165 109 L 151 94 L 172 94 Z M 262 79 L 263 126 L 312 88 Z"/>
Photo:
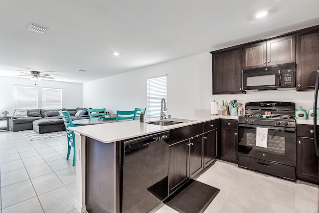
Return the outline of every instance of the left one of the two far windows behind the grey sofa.
<path id="1" fill-rule="evenodd" d="M 13 110 L 37 109 L 38 88 L 29 86 L 13 86 Z"/>

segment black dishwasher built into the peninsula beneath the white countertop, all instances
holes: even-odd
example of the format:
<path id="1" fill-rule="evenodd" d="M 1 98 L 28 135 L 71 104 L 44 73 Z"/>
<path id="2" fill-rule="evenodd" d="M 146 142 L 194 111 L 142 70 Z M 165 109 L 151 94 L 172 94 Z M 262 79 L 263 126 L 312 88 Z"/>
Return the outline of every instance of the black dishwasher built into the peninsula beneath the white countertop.
<path id="1" fill-rule="evenodd" d="M 123 213 L 147 213 L 168 196 L 169 131 L 122 142 Z"/>

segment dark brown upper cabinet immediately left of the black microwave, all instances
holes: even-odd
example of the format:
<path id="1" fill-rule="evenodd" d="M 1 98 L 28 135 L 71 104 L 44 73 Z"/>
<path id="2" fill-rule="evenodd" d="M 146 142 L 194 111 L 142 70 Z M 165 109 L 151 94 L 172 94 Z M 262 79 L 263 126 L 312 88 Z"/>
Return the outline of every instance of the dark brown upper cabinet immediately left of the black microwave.
<path id="1" fill-rule="evenodd" d="M 213 95 L 242 92 L 242 48 L 213 53 Z"/>

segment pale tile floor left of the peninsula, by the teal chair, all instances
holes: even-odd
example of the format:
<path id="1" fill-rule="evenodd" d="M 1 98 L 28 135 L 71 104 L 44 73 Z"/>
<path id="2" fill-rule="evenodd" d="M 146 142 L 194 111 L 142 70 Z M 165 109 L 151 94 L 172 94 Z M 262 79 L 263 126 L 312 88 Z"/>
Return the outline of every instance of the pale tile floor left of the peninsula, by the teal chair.
<path id="1" fill-rule="evenodd" d="M 29 141 L 0 131 L 0 213 L 78 213 L 66 136 Z"/>

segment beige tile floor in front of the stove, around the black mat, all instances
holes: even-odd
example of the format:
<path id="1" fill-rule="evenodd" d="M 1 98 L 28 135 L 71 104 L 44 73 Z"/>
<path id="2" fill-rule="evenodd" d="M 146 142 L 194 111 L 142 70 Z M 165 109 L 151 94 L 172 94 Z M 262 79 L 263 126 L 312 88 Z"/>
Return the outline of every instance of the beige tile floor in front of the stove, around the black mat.
<path id="1" fill-rule="evenodd" d="M 220 192 L 204 213 L 319 213 L 317 185 L 296 183 L 216 161 L 197 181 Z M 177 213 L 163 206 L 157 213 Z"/>

